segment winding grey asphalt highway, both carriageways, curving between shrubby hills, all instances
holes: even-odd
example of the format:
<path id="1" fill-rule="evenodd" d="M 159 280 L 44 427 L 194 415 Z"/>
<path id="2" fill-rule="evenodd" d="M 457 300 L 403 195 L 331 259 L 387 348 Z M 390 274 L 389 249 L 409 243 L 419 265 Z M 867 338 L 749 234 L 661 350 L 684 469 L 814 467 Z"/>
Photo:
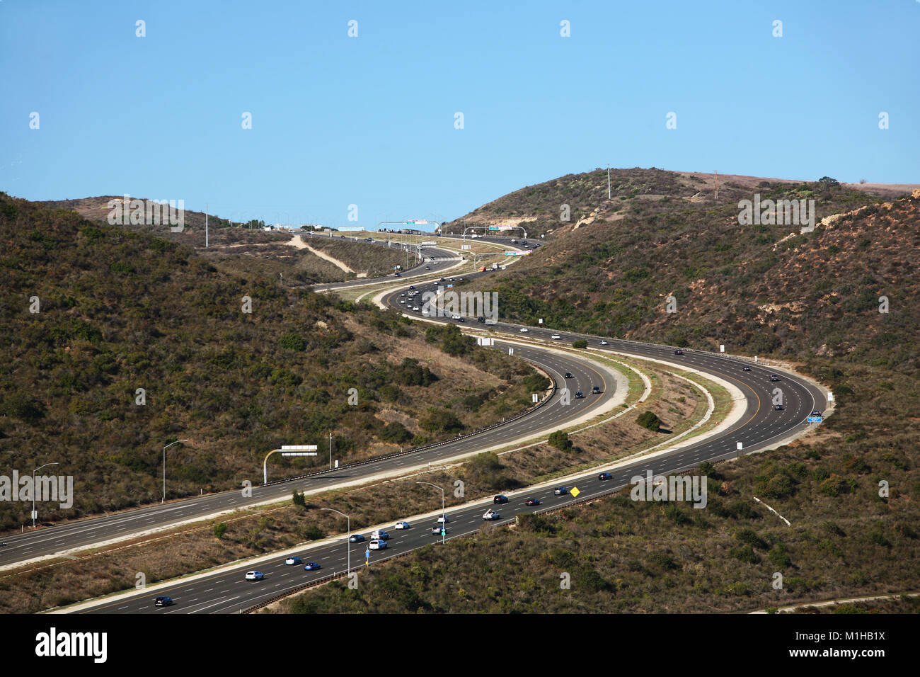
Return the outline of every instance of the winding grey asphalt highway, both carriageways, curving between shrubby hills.
<path id="1" fill-rule="evenodd" d="M 431 252 L 431 254 L 433 253 L 443 253 L 443 251 Z M 420 284 L 421 280 L 426 280 L 426 284 L 431 284 L 431 282 L 437 280 L 438 274 L 442 270 L 440 267 L 436 268 L 435 266 L 447 266 L 452 263 L 448 261 L 429 263 L 431 270 L 427 271 L 424 270 L 424 266 L 416 266 L 413 271 L 414 274 L 409 279 L 405 276 L 403 278 L 383 278 L 382 281 L 387 283 L 393 282 L 397 285 L 402 283 L 399 289 L 385 295 L 384 304 L 403 310 L 404 308 L 398 301 L 402 298 L 400 295 L 408 289 L 409 284 L 419 285 L 420 288 L 423 287 Z M 476 274 L 467 274 L 467 277 L 473 276 L 476 276 Z M 354 282 L 368 284 L 373 281 L 360 280 Z M 418 317 L 418 313 L 409 312 L 408 314 Z M 454 322 L 445 318 L 429 321 Z M 655 474 L 666 474 L 692 468 L 702 461 L 719 461 L 734 457 L 738 454 L 736 445 L 739 442 L 742 443 L 744 452 L 764 449 L 775 444 L 777 440 L 788 438 L 799 432 L 804 426 L 808 425 L 805 422 L 808 414 L 813 409 L 822 410 L 826 405 L 822 391 L 805 379 L 779 372 L 780 379 L 773 381 L 770 379 L 770 375 L 774 372 L 770 369 L 748 360 L 730 356 L 689 349 L 684 350 L 682 355 L 675 355 L 673 348 L 669 346 L 623 341 L 614 338 L 606 338 L 604 339 L 606 343 L 601 344 L 602 337 L 558 332 L 542 326 L 528 327 L 527 333 L 521 333 L 522 325 L 507 322 L 498 322 L 494 325 L 483 327 L 483 325 L 471 321 L 467 322 L 465 326 L 466 328 L 488 329 L 493 335 L 499 337 L 507 335 L 516 339 L 544 339 L 547 344 L 570 345 L 577 339 L 585 339 L 592 349 L 597 351 L 618 352 L 629 356 L 650 358 L 678 366 L 699 369 L 719 379 L 730 381 L 742 392 L 745 399 L 744 414 L 727 429 L 701 441 L 690 441 L 668 454 L 639 459 L 624 467 L 611 470 L 613 479 L 606 482 L 598 480 L 596 473 L 586 473 L 579 476 L 574 480 L 574 484 L 578 484 L 581 489 L 582 495 L 580 498 L 591 497 L 621 488 L 628 484 L 631 477 L 637 474 L 641 475 L 647 470 Z M 558 341 L 550 340 L 552 335 L 558 335 Z M 497 346 L 502 350 L 509 347 L 508 344 L 502 344 L 500 341 L 497 342 Z M 82 519 L 47 529 L 12 535 L 6 537 L 7 545 L 0 551 L 0 565 L 10 565 L 32 560 L 42 555 L 72 551 L 123 538 L 130 534 L 167 527 L 180 521 L 201 519 L 204 516 L 213 515 L 224 510 L 282 499 L 290 496 L 295 488 L 305 491 L 322 490 L 342 483 L 360 481 L 363 477 L 369 478 L 381 473 L 399 473 L 428 461 L 444 461 L 471 451 L 495 448 L 512 440 L 533 435 L 537 431 L 564 427 L 568 423 L 581 418 L 593 408 L 607 403 L 609 398 L 615 395 L 613 379 L 610 379 L 609 376 L 605 378 L 603 369 L 599 368 L 590 359 L 569 353 L 553 352 L 539 345 L 523 346 L 518 344 L 515 346 L 515 355 L 546 370 L 559 386 L 565 384 L 569 387 L 569 391 L 581 390 L 586 393 L 587 397 L 583 400 L 572 399 L 571 403 L 566 406 L 559 402 L 558 395 L 554 393 L 542 407 L 505 425 L 492 427 L 476 435 L 450 440 L 430 449 L 422 449 L 393 458 L 342 466 L 333 471 L 313 474 L 279 484 L 255 486 L 252 488 L 252 495 L 247 497 L 236 491 L 209 496 L 194 496 L 184 500 L 171 501 L 162 506 L 127 510 L 109 516 Z M 564 376 L 566 372 L 570 372 L 573 378 L 566 379 Z M 592 387 L 595 385 L 601 389 L 601 394 L 590 394 Z M 779 411 L 774 409 L 772 405 L 776 388 L 780 388 L 783 391 L 784 408 Z M 254 469 L 253 475 L 258 477 L 258 469 Z M 525 494 L 527 496 L 524 496 Z M 540 505 L 524 506 L 523 499 L 531 496 L 539 499 Z M 512 496 L 512 501 L 509 504 L 498 507 L 501 519 L 497 520 L 496 523 L 500 524 L 512 519 L 516 512 L 552 507 L 567 500 L 570 500 L 568 496 L 554 495 L 553 487 L 519 492 Z M 476 531 L 482 522 L 482 513 L 490 505 L 490 498 L 486 497 L 482 502 L 472 506 L 448 511 L 448 516 L 451 519 L 447 534 L 448 538 L 455 538 L 465 533 Z M 399 554 L 409 549 L 420 547 L 424 543 L 430 543 L 431 540 L 434 540 L 430 526 L 430 524 L 425 523 L 415 525 L 413 529 L 406 531 L 389 530 L 394 535 L 390 541 L 390 547 L 385 551 L 375 552 L 372 558 L 373 561 L 380 561 L 386 556 Z M 176 606 L 166 609 L 155 609 L 152 606 L 152 600 L 148 599 L 149 596 L 142 596 L 127 601 L 121 600 L 121 602 L 105 602 L 93 607 L 93 610 L 109 613 L 147 611 L 155 613 L 236 612 L 241 608 L 245 609 L 257 604 L 259 601 L 266 599 L 266 597 L 273 597 L 285 589 L 300 586 L 311 580 L 311 578 L 320 578 L 330 571 L 340 571 L 343 568 L 343 562 L 347 561 L 346 543 L 344 541 L 345 539 L 342 538 L 335 543 L 316 549 L 307 549 L 301 554 L 304 561 L 316 561 L 323 566 L 322 569 L 316 572 L 304 571 L 300 566 L 285 566 L 282 563 L 283 558 L 279 557 L 277 563 L 260 566 L 260 570 L 266 574 L 266 578 L 261 581 L 253 582 L 243 579 L 245 571 L 248 568 L 252 568 L 251 565 L 247 565 L 158 590 L 157 594 L 171 596 L 177 601 Z M 358 547 L 362 548 L 363 546 L 352 545 L 352 547 L 358 549 Z M 358 553 L 357 558 L 352 557 L 352 561 L 360 559 L 362 554 L 363 551 Z"/>

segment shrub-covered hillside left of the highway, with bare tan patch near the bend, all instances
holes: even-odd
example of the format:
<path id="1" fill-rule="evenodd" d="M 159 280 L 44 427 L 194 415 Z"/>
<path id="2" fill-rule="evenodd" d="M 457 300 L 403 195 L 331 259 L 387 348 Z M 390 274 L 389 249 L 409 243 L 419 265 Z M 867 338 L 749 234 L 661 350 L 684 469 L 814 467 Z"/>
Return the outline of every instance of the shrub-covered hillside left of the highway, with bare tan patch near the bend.
<path id="1" fill-rule="evenodd" d="M 158 500 L 177 439 L 190 443 L 167 451 L 170 497 L 258 481 L 281 444 L 325 450 L 332 432 L 349 461 L 529 405 L 533 369 L 472 339 L 432 342 L 396 312 L 219 271 L 188 246 L 6 193 L 0 274 L 4 473 L 55 461 L 75 481 L 75 508 L 43 519 Z M 0 505 L 0 529 L 30 508 Z"/>

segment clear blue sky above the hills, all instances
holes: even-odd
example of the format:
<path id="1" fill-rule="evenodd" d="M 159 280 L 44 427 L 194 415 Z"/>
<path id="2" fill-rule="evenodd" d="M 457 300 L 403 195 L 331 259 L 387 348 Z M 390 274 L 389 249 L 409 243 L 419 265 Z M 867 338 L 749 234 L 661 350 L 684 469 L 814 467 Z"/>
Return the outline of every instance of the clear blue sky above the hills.
<path id="1" fill-rule="evenodd" d="M 0 190 L 373 227 L 608 163 L 920 182 L 918 36 L 916 0 L 3 0 Z"/>

